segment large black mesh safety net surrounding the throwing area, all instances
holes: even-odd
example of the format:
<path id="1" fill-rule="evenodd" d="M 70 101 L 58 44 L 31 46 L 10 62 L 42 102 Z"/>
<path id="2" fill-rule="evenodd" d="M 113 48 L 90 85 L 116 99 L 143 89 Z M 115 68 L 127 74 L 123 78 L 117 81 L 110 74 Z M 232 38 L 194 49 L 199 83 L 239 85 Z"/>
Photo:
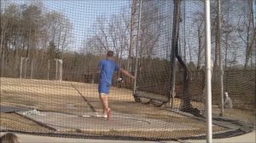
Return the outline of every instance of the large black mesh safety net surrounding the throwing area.
<path id="1" fill-rule="evenodd" d="M 255 3 L 222 1 L 218 20 L 211 1 L 214 134 L 241 128 L 234 120 L 255 123 Z M 27 110 L 1 112 L 1 131 L 205 135 L 204 20 L 201 0 L 1 0 L 1 107 Z M 108 50 L 136 75 L 113 76 L 109 121 L 97 91 Z"/>

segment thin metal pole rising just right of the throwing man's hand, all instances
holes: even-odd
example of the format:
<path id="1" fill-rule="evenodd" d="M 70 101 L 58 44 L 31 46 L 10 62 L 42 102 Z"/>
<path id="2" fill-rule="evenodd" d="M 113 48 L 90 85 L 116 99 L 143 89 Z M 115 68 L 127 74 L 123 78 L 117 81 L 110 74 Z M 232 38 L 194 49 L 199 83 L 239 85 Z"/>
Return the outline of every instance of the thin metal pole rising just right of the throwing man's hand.
<path id="1" fill-rule="evenodd" d="M 140 0 L 140 8 L 139 8 L 139 15 L 138 15 L 138 27 L 137 27 L 137 42 L 136 42 L 136 61 L 135 61 L 135 80 L 133 85 L 133 94 L 135 94 L 137 90 L 137 55 L 138 55 L 138 45 L 141 46 L 141 40 L 139 41 L 139 33 L 141 31 L 141 16 L 142 16 L 142 7 L 143 7 L 143 0 Z"/>

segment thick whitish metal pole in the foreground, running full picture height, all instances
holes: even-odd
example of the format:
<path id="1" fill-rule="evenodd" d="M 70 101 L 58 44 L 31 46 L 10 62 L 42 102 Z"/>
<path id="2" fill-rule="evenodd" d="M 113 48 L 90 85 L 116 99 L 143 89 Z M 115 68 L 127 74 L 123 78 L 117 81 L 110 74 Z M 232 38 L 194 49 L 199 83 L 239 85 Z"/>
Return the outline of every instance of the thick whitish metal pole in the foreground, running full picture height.
<path id="1" fill-rule="evenodd" d="M 205 32 L 206 32 L 206 87 L 207 87 L 207 143 L 212 143 L 212 78 L 211 78 L 211 18 L 210 0 L 205 0 Z"/>

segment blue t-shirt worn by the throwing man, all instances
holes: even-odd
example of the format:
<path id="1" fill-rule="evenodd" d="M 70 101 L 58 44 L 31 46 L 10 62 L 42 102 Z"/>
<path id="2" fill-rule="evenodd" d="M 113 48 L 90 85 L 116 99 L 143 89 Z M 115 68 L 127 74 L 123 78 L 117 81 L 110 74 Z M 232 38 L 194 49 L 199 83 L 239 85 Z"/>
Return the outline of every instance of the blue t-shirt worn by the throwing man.
<path id="1" fill-rule="evenodd" d="M 113 73 L 119 71 L 119 66 L 113 60 L 101 60 L 99 64 L 101 69 L 100 83 L 112 84 Z"/>

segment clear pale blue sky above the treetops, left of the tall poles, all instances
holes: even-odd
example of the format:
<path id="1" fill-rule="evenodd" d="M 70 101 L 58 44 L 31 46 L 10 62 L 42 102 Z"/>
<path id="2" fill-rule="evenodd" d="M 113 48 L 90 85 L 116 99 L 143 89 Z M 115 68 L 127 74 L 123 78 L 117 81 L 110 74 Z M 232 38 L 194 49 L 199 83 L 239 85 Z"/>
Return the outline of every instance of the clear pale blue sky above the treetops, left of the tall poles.
<path id="1" fill-rule="evenodd" d="M 71 49 L 80 49 L 84 39 L 95 34 L 96 19 L 100 16 L 110 18 L 114 14 L 120 14 L 124 9 L 127 14 L 131 0 L 9 0 L 14 3 L 43 2 L 44 10 L 57 11 L 65 15 L 72 24 Z M 107 23 L 107 21 L 106 21 Z"/>

